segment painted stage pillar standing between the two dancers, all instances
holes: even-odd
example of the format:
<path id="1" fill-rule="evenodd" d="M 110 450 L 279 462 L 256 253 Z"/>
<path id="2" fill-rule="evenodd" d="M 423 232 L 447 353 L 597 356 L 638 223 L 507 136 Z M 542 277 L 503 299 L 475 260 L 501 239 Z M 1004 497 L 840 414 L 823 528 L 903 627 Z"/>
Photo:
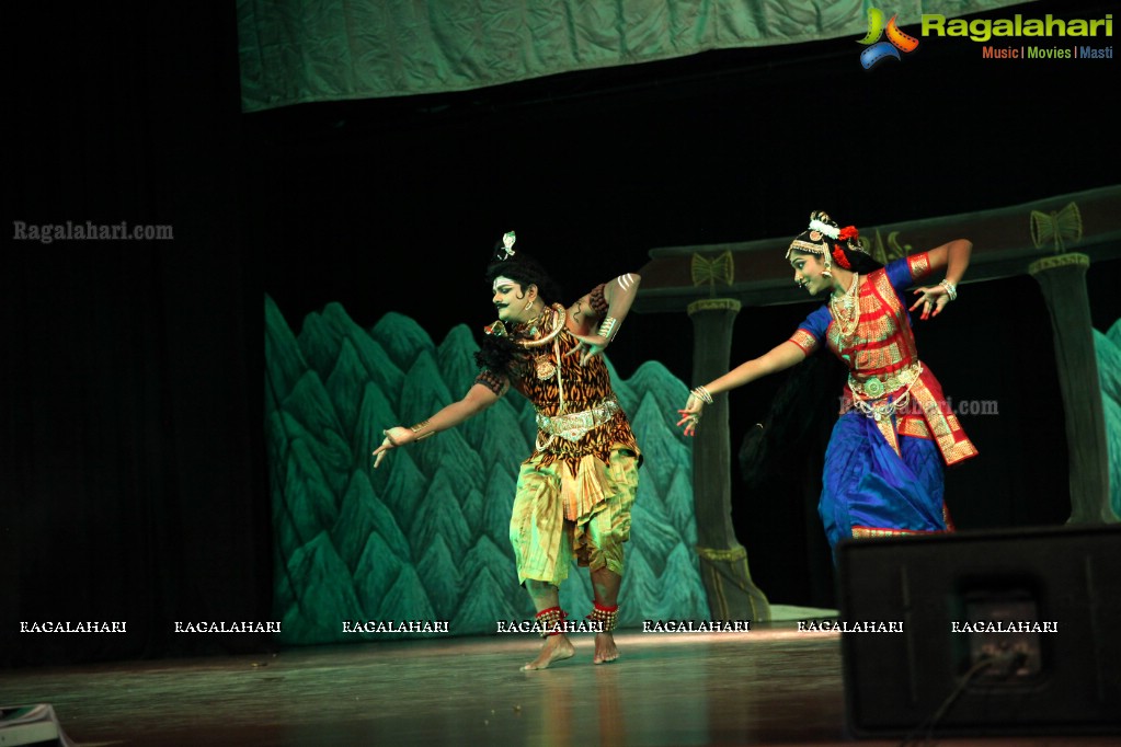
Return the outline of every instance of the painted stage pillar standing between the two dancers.
<path id="1" fill-rule="evenodd" d="M 703 384 L 729 370 L 732 325 L 740 302 L 712 298 L 688 305 L 693 320 L 693 381 Z M 693 445 L 693 504 L 697 554 L 712 619 L 770 619 L 770 604 L 751 580 L 748 551 L 732 524 L 732 450 L 728 394 L 704 409 Z"/>

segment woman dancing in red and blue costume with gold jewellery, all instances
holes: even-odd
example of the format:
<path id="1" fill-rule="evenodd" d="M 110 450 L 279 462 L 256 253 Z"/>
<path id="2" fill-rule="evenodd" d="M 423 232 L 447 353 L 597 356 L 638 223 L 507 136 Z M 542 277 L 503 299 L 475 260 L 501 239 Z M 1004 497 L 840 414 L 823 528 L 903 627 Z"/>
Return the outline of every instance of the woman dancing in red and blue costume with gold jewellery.
<path id="1" fill-rule="evenodd" d="M 849 368 L 818 504 L 834 561 L 847 538 L 953 531 L 943 463 L 956 464 L 976 449 L 919 360 L 908 311 L 932 319 L 957 298 L 972 249 L 958 239 L 884 267 L 855 227 L 815 212 L 786 259 L 794 281 L 812 296 L 827 293 L 827 302 L 785 343 L 694 389 L 677 424 L 692 436 L 714 394 L 789 368 L 824 344 Z M 916 289 L 908 308 L 906 289 L 943 269 L 945 278 Z"/>

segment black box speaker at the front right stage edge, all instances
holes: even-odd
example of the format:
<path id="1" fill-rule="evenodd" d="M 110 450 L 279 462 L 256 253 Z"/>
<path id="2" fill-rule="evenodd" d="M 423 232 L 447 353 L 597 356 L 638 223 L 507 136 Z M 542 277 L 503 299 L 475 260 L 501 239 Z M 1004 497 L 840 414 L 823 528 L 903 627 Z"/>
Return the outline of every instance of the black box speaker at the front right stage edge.
<path id="1" fill-rule="evenodd" d="M 837 548 L 851 736 L 1121 732 L 1121 526 Z"/>

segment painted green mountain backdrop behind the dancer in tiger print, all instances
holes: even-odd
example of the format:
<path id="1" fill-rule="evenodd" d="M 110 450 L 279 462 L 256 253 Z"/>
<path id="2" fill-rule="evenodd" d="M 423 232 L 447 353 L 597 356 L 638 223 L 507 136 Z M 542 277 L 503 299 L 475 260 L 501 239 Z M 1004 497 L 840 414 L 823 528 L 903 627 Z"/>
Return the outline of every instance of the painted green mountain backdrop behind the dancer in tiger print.
<path id="1" fill-rule="evenodd" d="M 435 345 L 387 314 L 363 329 L 339 305 L 293 334 L 265 299 L 265 413 L 275 531 L 275 619 L 281 643 L 426 635 L 346 633 L 346 622 L 447 622 L 451 635 L 493 634 L 532 617 L 508 540 L 520 463 L 532 451 L 532 407 L 511 392 L 456 429 L 392 451 L 373 470 L 383 428 L 460 399 L 478 373 L 466 326 Z M 693 547 L 692 458 L 671 414 L 685 384 L 648 362 L 615 391 L 646 456 L 634 504 L 620 624 L 705 619 Z M 560 601 L 591 610 L 573 568 Z M 432 634 L 427 634 L 432 635 Z"/>

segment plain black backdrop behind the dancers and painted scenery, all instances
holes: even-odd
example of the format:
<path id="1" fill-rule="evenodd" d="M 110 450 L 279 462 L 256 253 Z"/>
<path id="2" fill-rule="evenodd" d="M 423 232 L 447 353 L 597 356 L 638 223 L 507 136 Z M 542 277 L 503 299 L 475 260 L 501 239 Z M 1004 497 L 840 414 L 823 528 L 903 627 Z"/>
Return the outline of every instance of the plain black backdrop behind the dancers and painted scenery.
<path id="1" fill-rule="evenodd" d="M 265 293 L 296 329 L 337 301 L 363 326 L 407 314 L 438 343 L 489 320 L 475 278 L 509 228 L 578 293 L 650 248 L 781 240 L 815 208 L 872 225 L 1117 183 L 1112 59 L 981 60 L 947 39 L 865 72 L 842 39 L 243 115 L 232 3 L 4 15 L 18 39 L 6 224 L 168 224 L 175 239 L 4 252 L 0 664 L 268 646 L 170 623 L 270 618 Z M 1087 279 L 1099 329 L 1121 316 L 1117 271 Z M 809 308 L 741 312 L 733 360 Z M 684 315 L 637 314 L 624 332 L 620 373 L 652 357 L 689 381 Z M 947 476 L 958 524 L 1062 522 L 1066 446 L 1035 282 L 966 284 L 919 335 L 947 393 L 1001 403 L 965 422 L 982 457 Z M 733 394 L 733 445 L 784 386 L 812 381 Z M 738 487 L 738 532 L 775 601 L 831 601 L 819 526 L 788 487 L 818 461 L 780 448 L 761 484 Z M 18 633 L 89 619 L 129 633 Z"/>

